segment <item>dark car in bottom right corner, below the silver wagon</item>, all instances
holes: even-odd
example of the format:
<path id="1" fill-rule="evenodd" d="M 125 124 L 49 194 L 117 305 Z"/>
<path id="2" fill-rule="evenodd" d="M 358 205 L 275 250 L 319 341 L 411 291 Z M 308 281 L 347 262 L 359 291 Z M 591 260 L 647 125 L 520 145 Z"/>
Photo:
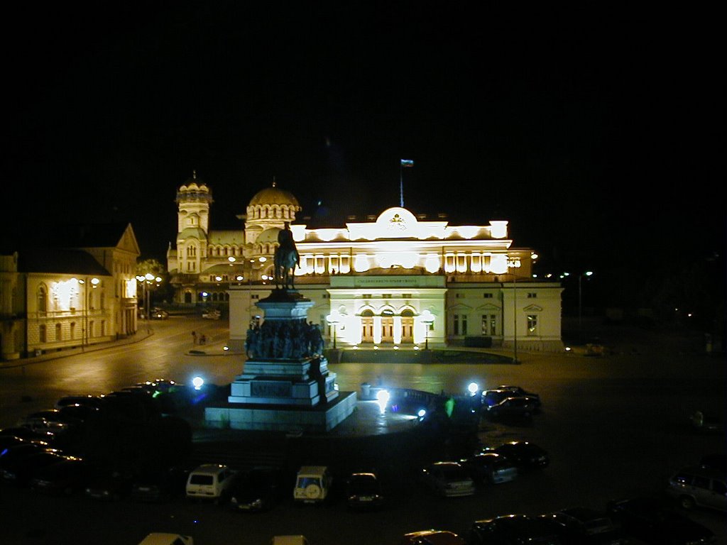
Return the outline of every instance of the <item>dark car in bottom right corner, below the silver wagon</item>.
<path id="1" fill-rule="evenodd" d="M 651 545 L 716 543 L 712 530 L 680 514 L 659 498 L 635 496 L 608 501 L 606 510 L 627 536 Z"/>

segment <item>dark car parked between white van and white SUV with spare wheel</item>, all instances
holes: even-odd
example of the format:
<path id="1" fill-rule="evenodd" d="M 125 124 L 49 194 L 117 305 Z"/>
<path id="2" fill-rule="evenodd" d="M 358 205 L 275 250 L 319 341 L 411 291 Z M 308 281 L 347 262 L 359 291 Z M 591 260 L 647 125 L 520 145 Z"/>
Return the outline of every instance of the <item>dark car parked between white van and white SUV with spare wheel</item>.
<path id="1" fill-rule="evenodd" d="M 235 480 L 230 491 L 230 506 L 233 511 L 267 511 L 282 500 L 283 493 L 280 469 L 254 467 Z"/>

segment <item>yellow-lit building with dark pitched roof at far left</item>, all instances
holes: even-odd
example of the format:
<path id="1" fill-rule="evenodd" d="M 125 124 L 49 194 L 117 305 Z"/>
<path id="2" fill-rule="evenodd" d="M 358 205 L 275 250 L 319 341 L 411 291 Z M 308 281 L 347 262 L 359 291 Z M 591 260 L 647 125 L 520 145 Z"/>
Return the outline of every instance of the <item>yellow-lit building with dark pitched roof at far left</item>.
<path id="1" fill-rule="evenodd" d="M 139 246 L 129 224 L 90 225 L 0 257 L 1 357 L 86 347 L 137 331 Z M 55 241 L 47 241 L 55 243 Z"/>

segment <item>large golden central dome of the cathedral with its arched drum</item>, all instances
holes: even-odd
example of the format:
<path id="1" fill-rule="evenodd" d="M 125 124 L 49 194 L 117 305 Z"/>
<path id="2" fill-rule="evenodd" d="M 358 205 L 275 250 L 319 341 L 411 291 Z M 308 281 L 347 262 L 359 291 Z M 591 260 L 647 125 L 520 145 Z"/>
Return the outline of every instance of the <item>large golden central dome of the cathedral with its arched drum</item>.
<path id="1" fill-rule="evenodd" d="M 273 229 L 273 233 L 283 229 L 285 222 L 295 221 L 295 213 L 300 210 L 297 198 L 292 193 L 277 187 L 273 180 L 272 187 L 265 187 L 259 191 L 247 205 L 245 242 L 256 243 L 262 232 L 268 229 Z"/>

